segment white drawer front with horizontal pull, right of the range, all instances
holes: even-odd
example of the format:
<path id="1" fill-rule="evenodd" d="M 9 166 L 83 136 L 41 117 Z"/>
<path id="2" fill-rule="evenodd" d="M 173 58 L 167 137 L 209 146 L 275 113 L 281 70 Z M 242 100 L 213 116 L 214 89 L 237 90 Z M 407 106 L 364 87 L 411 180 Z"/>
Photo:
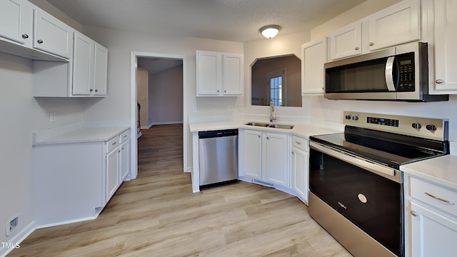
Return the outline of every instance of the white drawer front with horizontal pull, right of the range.
<path id="1" fill-rule="evenodd" d="M 411 177 L 411 197 L 457 216 L 457 191 Z"/>

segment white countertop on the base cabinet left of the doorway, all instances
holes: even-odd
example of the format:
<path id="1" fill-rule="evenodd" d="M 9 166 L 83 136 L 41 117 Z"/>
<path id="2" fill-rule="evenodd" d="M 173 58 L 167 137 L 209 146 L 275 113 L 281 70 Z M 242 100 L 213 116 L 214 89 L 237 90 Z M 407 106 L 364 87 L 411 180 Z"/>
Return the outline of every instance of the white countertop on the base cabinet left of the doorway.
<path id="1" fill-rule="evenodd" d="M 36 137 L 34 133 L 33 143 L 34 146 L 49 145 L 56 143 L 86 143 L 96 141 L 109 141 L 114 136 L 127 131 L 128 126 L 114 126 L 114 127 L 82 127 L 79 129 L 59 133 L 56 136 L 47 138 Z M 39 139 L 37 139 L 39 138 Z"/>

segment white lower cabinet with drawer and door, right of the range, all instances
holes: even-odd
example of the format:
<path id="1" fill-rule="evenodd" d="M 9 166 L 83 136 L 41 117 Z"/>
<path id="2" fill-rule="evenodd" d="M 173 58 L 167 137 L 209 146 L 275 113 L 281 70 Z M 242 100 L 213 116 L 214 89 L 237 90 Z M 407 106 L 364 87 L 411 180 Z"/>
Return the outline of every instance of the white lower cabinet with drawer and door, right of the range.
<path id="1" fill-rule="evenodd" d="M 406 176 L 406 256 L 455 256 L 457 191 Z"/>

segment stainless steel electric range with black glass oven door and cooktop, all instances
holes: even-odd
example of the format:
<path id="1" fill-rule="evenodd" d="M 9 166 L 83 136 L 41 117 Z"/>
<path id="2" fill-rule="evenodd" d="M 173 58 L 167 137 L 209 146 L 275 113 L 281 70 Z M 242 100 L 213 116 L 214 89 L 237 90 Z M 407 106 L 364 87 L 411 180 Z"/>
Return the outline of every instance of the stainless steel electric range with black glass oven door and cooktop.
<path id="1" fill-rule="evenodd" d="M 448 121 L 345 111 L 311 136 L 309 214 L 353 256 L 404 256 L 400 166 L 448 154 Z"/>

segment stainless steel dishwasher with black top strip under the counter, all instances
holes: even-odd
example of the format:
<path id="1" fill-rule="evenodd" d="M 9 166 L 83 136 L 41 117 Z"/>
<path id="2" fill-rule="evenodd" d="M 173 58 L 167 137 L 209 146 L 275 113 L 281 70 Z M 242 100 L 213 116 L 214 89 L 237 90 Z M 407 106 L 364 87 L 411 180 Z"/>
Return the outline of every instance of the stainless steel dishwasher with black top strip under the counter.
<path id="1" fill-rule="evenodd" d="M 238 180 L 238 129 L 199 132 L 200 188 Z"/>

